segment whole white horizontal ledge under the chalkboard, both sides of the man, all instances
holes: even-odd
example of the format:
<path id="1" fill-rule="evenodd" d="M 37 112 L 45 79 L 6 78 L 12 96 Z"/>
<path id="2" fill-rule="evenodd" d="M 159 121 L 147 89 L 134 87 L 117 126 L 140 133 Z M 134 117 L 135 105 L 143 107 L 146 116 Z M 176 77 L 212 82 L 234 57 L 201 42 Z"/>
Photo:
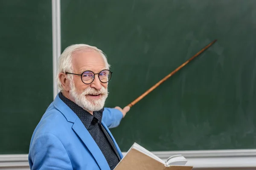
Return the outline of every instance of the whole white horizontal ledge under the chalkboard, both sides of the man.
<path id="1" fill-rule="evenodd" d="M 256 169 L 256 149 L 248 150 L 195 150 L 152 152 L 164 161 L 172 155 L 182 154 L 187 165 L 200 168 L 253 168 Z M 123 152 L 123 155 L 126 153 Z M 28 168 L 28 155 L 0 155 L 1 167 Z M 18 168 L 17 168 L 18 169 Z"/>

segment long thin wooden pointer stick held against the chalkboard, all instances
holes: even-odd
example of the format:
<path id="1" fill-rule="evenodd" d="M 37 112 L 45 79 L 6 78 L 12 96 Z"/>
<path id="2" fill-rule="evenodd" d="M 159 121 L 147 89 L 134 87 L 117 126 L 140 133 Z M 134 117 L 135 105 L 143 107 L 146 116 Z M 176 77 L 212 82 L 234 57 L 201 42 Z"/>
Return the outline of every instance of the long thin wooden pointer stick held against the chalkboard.
<path id="1" fill-rule="evenodd" d="M 197 54 L 195 54 L 193 57 L 191 57 L 189 60 L 187 60 L 186 62 L 184 62 L 182 65 L 180 65 L 178 68 L 176 68 L 174 71 L 172 71 L 172 73 L 168 74 L 166 77 L 164 77 L 163 79 L 161 79 L 159 82 L 157 82 L 157 84 L 153 85 L 150 89 L 148 89 L 147 91 L 145 91 L 142 95 L 140 95 L 137 99 L 135 99 L 133 102 L 131 102 L 128 106 L 130 106 L 130 108 L 135 105 L 137 102 L 139 102 L 143 97 L 145 97 L 146 95 L 148 95 L 151 91 L 153 91 L 155 88 L 157 88 L 160 84 L 162 84 L 164 81 L 166 81 L 169 77 L 171 77 L 173 74 L 175 74 L 177 71 L 180 70 L 180 68 L 183 68 L 187 63 L 189 63 L 192 59 L 194 59 L 195 57 L 197 57 L 198 55 L 200 55 L 202 52 L 204 52 L 207 48 L 209 48 L 212 44 L 214 44 L 214 42 L 216 42 L 217 40 L 213 40 L 211 43 L 209 43 L 206 47 L 204 47 L 203 49 L 201 49 L 201 51 L 199 51 Z"/>

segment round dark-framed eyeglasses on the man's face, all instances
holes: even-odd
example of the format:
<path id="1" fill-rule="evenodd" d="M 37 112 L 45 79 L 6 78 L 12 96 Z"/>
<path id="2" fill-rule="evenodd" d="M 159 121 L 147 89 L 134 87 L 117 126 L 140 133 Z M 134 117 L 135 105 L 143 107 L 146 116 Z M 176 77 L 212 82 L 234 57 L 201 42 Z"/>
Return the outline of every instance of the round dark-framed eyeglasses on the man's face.
<path id="1" fill-rule="evenodd" d="M 74 74 L 74 73 L 66 72 L 66 74 Z M 112 72 L 109 70 L 102 70 L 99 73 L 93 73 L 92 71 L 84 71 L 82 74 L 74 74 L 74 75 L 81 76 L 81 80 L 84 84 L 90 84 L 93 82 L 95 78 L 95 74 L 98 74 L 99 81 L 106 83 L 106 82 L 109 82 L 109 80 L 111 79 Z"/>

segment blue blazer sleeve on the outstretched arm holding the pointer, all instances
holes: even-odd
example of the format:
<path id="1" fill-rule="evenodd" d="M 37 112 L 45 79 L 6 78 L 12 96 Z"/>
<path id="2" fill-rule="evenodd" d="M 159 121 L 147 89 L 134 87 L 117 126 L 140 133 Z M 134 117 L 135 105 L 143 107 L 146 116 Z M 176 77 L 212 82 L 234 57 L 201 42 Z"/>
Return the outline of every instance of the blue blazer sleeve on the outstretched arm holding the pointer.
<path id="1" fill-rule="evenodd" d="M 117 127 L 122 120 L 122 112 L 115 108 L 104 108 L 102 121 L 108 128 Z"/>

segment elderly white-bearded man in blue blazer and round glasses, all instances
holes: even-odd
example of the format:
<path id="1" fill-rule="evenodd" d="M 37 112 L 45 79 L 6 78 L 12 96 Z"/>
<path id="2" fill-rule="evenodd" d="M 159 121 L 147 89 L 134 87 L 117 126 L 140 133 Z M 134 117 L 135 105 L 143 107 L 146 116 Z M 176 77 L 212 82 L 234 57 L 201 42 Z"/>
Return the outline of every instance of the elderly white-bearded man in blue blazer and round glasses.
<path id="1" fill-rule="evenodd" d="M 59 57 L 60 93 L 32 135 L 32 170 L 113 170 L 122 153 L 108 128 L 129 111 L 104 108 L 111 71 L 104 53 L 85 44 L 71 45 Z"/>

